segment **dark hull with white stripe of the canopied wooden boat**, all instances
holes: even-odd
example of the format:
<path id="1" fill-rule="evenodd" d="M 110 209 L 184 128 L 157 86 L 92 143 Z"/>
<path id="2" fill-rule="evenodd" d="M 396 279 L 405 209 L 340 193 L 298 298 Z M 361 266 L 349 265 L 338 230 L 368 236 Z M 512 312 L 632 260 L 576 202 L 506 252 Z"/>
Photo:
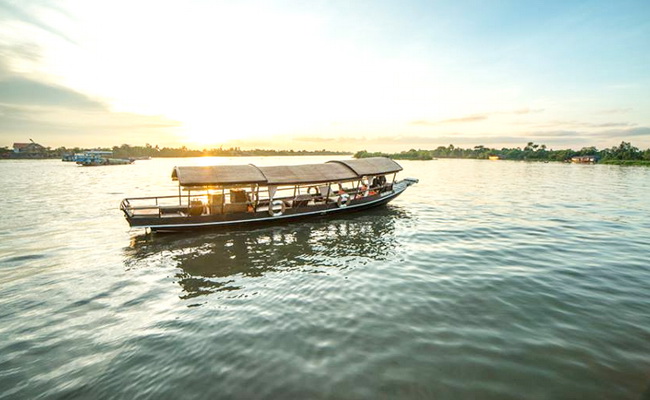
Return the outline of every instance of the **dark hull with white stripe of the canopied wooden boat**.
<path id="1" fill-rule="evenodd" d="M 196 229 L 241 228 L 262 224 L 284 224 L 298 220 L 342 215 L 380 207 L 386 205 L 388 202 L 402 194 L 409 185 L 408 182 L 395 184 L 393 190 L 389 192 L 352 200 L 351 203 L 345 207 L 340 207 L 337 203 L 329 203 L 296 209 L 288 208 L 282 215 L 275 216 L 269 215 L 267 211 L 258 211 L 165 218 L 129 217 L 127 215 L 126 218 L 131 227 L 149 228 L 152 231 L 187 231 Z"/>

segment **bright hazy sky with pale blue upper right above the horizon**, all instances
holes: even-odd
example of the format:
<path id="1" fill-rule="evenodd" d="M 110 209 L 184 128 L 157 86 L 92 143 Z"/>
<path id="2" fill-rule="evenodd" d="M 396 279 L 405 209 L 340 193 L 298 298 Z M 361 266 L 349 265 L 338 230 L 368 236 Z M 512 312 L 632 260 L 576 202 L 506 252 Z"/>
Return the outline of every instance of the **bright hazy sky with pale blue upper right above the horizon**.
<path id="1" fill-rule="evenodd" d="M 0 147 L 650 147 L 650 1 L 0 0 Z"/>

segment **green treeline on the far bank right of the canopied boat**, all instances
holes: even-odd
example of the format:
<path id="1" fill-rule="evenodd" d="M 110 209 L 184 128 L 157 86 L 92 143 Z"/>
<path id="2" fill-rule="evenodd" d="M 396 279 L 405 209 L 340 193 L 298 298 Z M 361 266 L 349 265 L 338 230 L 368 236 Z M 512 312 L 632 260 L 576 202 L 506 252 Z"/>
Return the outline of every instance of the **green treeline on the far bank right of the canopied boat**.
<path id="1" fill-rule="evenodd" d="M 629 142 L 621 142 L 618 146 L 598 150 L 596 147 L 583 147 L 580 150 L 549 150 L 546 145 L 528 142 L 524 147 L 492 149 L 485 146 L 475 146 L 469 149 L 440 146 L 434 150 L 403 151 L 401 153 L 372 153 L 365 150 L 354 154 L 354 158 L 390 157 L 396 160 L 432 160 L 434 158 L 475 158 L 488 159 L 497 156 L 502 160 L 529 161 L 567 161 L 575 156 L 596 156 L 598 162 L 605 164 L 650 165 L 650 149 L 639 150 Z"/>

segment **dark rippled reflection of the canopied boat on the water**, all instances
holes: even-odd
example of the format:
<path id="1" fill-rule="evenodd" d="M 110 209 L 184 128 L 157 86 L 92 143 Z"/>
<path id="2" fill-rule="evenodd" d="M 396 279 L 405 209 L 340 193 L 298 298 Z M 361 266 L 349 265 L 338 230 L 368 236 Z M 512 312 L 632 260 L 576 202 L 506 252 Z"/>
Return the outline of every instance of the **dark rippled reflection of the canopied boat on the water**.
<path id="1" fill-rule="evenodd" d="M 406 210 L 388 207 L 282 227 L 143 234 L 125 250 L 125 265 L 176 267 L 181 298 L 192 298 L 241 289 L 246 278 L 269 272 L 323 272 L 388 260 L 398 253 L 398 224 L 411 219 Z"/>

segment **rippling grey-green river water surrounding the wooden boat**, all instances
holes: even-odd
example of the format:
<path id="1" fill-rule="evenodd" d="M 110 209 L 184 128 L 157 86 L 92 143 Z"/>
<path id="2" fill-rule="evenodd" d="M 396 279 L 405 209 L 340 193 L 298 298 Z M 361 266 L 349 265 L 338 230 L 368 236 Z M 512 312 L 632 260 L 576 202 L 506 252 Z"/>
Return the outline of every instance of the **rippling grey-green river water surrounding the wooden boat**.
<path id="1" fill-rule="evenodd" d="M 639 399 L 650 168 L 403 161 L 387 207 L 130 230 L 174 165 L 2 161 L 0 398 Z"/>

